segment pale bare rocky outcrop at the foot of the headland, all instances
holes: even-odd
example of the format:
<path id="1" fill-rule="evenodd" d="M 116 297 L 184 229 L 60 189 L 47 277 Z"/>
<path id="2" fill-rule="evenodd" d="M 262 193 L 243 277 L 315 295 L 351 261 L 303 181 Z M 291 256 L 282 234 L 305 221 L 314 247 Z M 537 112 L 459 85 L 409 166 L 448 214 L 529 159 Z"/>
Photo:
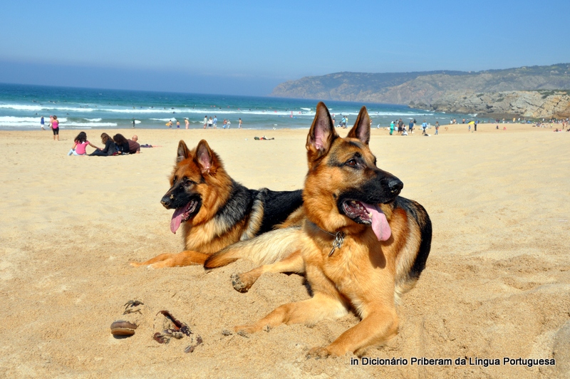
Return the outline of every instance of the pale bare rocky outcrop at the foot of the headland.
<path id="1" fill-rule="evenodd" d="M 477 113 L 481 117 L 567 118 L 570 91 L 503 91 L 465 93 L 450 91 L 427 108 L 447 113 Z M 418 105 L 410 104 L 416 108 Z"/>

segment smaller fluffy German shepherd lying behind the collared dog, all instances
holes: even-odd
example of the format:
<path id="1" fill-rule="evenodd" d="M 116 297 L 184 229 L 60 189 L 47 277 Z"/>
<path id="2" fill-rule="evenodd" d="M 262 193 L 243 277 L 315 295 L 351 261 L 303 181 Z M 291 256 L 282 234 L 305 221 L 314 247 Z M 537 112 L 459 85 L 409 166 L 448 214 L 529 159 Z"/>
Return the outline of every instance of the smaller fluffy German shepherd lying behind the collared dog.
<path id="1" fill-rule="evenodd" d="M 301 190 L 249 190 L 229 177 L 222 160 L 205 140 L 194 150 L 189 150 L 184 141 L 179 142 L 170 185 L 161 202 L 166 209 L 175 209 L 170 230 L 176 233 L 182 225 L 185 251 L 132 262 L 135 267 L 204 264 L 210 254 L 278 224 L 298 223 L 301 215 Z M 255 257 L 251 260 L 268 263 Z"/>

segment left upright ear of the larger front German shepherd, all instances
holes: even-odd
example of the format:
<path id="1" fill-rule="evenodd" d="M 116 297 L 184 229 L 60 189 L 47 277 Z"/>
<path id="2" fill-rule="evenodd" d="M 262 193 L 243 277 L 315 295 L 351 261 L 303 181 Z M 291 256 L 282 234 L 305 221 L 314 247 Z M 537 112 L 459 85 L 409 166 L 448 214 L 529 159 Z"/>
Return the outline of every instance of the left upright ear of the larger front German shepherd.
<path id="1" fill-rule="evenodd" d="M 325 155 L 337 137 L 331 114 L 328 113 L 325 103 L 321 101 L 316 105 L 315 119 L 307 135 L 306 148 L 309 160 L 316 160 Z"/>

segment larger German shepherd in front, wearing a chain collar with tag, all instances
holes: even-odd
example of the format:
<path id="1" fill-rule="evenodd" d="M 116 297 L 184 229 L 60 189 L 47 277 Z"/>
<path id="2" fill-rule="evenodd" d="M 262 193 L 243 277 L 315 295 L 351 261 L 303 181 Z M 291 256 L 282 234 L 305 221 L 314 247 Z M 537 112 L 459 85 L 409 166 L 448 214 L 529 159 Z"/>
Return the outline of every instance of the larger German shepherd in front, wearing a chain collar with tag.
<path id="1" fill-rule="evenodd" d="M 266 271 L 306 273 L 312 298 L 279 306 L 257 323 L 237 326 L 237 331 L 251 333 L 281 323 L 313 324 L 339 318 L 353 308 L 361 322 L 330 345 L 309 351 L 313 357 L 361 355 L 398 332 L 395 303 L 413 288 L 425 268 L 432 226 L 420 204 L 398 196 L 403 183 L 376 167 L 369 140 L 365 107 L 342 138 L 326 106 L 318 103 L 306 142 L 309 172 L 302 227 L 239 242 L 206 261 L 205 266 L 219 266 L 237 256 L 249 256 L 261 246 L 269 249 L 266 254 L 283 256 L 282 250 L 293 254 L 234 281 L 249 285 Z"/>

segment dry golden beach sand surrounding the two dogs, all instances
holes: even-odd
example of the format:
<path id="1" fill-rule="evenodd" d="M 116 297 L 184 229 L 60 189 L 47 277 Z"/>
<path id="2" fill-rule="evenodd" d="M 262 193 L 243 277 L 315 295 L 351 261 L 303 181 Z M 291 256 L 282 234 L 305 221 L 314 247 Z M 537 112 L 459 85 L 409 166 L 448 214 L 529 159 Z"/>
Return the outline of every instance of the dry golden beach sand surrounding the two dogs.
<path id="1" fill-rule="evenodd" d="M 239 294 L 229 276 L 251 268 L 247 261 L 209 273 L 128 265 L 182 248 L 160 205 L 180 139 L 208 140 L 248 187 L 293 190 L 304 182 L 307 130 L 136 130 L 140 142 L 162 147 L 128 157 L 66 156 L 77 131 L 62 130 L 59 142 L 49 131 L 0 132 L 1 376 L 568 378 L 570 133 L 494 126 L 443 126 L 431 137 L 372 131 L 379 167 L 433 223 L 427 268 L 398 308 L 400 333 L 366 353 L 408 365 L 374 367 L 351 365 L 353 355 L 305 359 L 356 324 L 353 315 L 222 335 L 308 298 L 301 276 L 270 274 Z M 101 130 L 87 132 L 100 145 Z M 130 299 L 145 302 L 151 321 L 114 338 L 110 323 Z M 162 309 L 203 345 L 184 353 L 187 340 L 153 341 L 152 316 Z M 555 358 L 556 366 L 422 366 L 412 357 Z"/>

